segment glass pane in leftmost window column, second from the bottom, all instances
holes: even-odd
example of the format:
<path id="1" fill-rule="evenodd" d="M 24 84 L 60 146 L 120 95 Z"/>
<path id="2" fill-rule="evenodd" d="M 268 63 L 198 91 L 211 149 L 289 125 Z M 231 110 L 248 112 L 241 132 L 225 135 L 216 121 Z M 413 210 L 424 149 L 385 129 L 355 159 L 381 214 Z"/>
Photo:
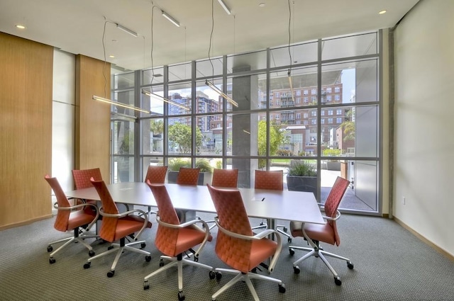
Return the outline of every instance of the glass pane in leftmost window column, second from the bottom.
<path id="1" fill-rule="evenodd" d="M 113 127 L 114 154 L 134 154 L 134 123 L 116 120 Z"/>

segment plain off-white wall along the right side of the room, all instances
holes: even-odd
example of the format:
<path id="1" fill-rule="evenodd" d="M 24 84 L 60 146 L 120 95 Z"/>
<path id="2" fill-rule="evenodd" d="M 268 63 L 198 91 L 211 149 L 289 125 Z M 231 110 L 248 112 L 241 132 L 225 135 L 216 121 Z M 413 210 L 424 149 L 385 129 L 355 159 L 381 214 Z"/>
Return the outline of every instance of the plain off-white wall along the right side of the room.
<path id="1" fill-rule="evenodd" d="M 422 0 L 395 31 L 394 216 L 454 256 L 453 16 Z"/>

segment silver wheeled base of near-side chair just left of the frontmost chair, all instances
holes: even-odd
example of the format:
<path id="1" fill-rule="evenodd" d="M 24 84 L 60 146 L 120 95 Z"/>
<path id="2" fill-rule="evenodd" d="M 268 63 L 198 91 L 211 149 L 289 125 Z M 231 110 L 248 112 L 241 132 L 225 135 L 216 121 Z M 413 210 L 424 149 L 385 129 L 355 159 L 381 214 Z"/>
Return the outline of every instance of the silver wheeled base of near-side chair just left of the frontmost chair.
<path id="1" fill-rule="evenodd" d="M 189 259 L 190 256 L 188 256 L 188 255 L 182 256 L 182 254 L 179 254 L 177 257 L 163 255 L 160 258 L 161 258 L 161 261 L 160 261 L 161 268 L 158 268 L 156 271 L 154 271 L 153 273 L 150 273 L 150 275 L 145 276 L 145 278 L 143 278 L 143 289 L 144 290 L 148 290 L 148 288 L 150 288 L 148 279 L 152 278 L 153 276 L 156 276 L 159 273 L 167 271 L 169 268 L 172 268 L 173 266 L 177 266 L 177 268 L 178 268 L 178 300 L 184 300 L 183 265 L 205 268 L 210 271 L 209 272 L 210 279 L 214 279 L 216 277 L 216 274 L 214 273 L 214 268 L 212 266 L 208 266 L 204 263 L 199 263 L 197 261 L 192 261 Z M 167 263 L 166 265 L 164 265 L 164 263 L 163 263 L 164 259 L 169 260 L 170 263 Z"/>

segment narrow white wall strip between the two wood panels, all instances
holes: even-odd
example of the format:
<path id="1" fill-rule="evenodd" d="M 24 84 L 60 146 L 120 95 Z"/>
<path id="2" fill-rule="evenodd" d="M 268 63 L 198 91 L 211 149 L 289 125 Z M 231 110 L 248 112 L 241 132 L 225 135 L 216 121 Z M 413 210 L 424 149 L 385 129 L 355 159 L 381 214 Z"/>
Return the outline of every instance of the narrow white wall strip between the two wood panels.
<path id="1" fill-rule="evenodd" d="M 63 191 L 74 189 L 75 72 L 74 55 L 54 50 L 52 79 L 52 176 Z"/>

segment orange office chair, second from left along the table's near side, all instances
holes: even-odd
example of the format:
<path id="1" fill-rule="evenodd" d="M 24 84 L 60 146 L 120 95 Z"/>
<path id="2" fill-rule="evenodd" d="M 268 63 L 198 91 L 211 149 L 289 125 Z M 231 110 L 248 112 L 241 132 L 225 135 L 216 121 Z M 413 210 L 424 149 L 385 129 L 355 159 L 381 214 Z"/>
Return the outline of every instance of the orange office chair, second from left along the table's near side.
<path id="1" fill-rule="evenodd" d="M 94 188 L 96 188 L 102 203 L 102 207 L 99 208 L 99 212 L 103 217 L 99 236 L 101 239 L 111 243 L 120 240 L 120 244 L 111 244 L 107 251 L 89 258 L 87 263 L 84 264 L 84 268 L 89 268 L 94 259 L 116 252 L 114 263 L 112 263 L 111 266 L 111 271 L 107 273 L 107 277 L 111 278 L 115 274 L 116 264 L 118 263 L 118 259 L 120 259 L 123 251 L 133 251 L 135 253 L 144 254 L 145 260 L 147 262 L 150 261 L 150 252 L 133 247 L 135 244 L 140 244 L 141 248 L 145 248 L 146 246 L 145 241 L 138 241 L 138 237 L 140 237 L 143 230 L 151 227 L 151 222 L 148 222 L 146 213 L 143 212 L 143 210 L 129 210 L 123 213 L 118 212 L 118 208 L 116 207 L 114 200 L 112 200 L 111 194 L 107 190 L 107 186 L 104 181 L 95 181 L 94 178 L 90 181 L 92 182 Z M 139 212 L 139 214 L 143 217 L 133 215 L 135 212 Z M 138 234 L 134 236 L 133 234 L 135 232 L 138 232 Z M 133 242 L 126 244 L 125 238 L 127 236 L 133 237 Z"/>

